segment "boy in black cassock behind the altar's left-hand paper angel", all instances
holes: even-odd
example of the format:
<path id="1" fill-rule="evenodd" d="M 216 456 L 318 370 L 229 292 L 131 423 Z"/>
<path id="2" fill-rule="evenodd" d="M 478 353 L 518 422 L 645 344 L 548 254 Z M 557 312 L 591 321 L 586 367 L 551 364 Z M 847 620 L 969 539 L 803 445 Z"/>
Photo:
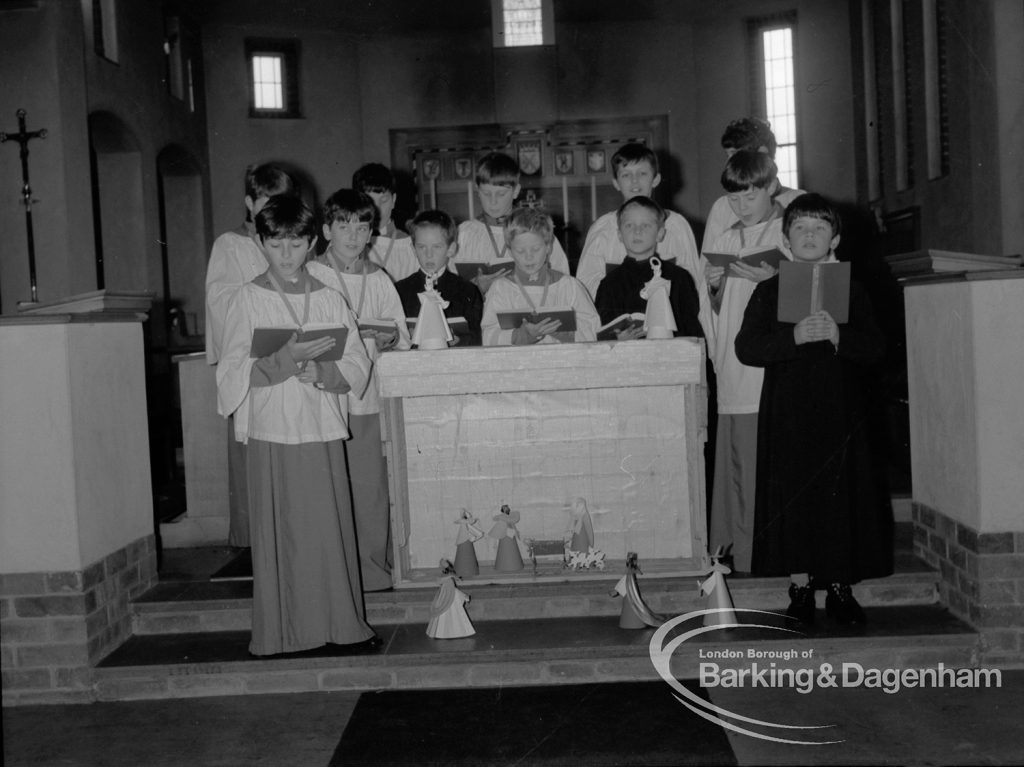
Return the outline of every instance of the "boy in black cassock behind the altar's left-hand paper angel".
<path id="1" fill-rule="evenodd" d="M 432 276 L 434 290 L 449 302 L 444 316 L 461 316 L 468 326 L 467 331 L 456 334 L 458 345 L 479 346 L 483 298 L 475 285 L 447 268 L 449 259 L 455 255 L 459 247 L 457 242 L 459 229 L 455 221 L 444 211 L 427 210 L 417 214 L 409 224 L 409 228 L 420 268 L 394 286 L 398 291 L 398 297 L 401 298 L 406 316 L 419 315 L 419 296 L 423 293 L 427 276 Z"/>

